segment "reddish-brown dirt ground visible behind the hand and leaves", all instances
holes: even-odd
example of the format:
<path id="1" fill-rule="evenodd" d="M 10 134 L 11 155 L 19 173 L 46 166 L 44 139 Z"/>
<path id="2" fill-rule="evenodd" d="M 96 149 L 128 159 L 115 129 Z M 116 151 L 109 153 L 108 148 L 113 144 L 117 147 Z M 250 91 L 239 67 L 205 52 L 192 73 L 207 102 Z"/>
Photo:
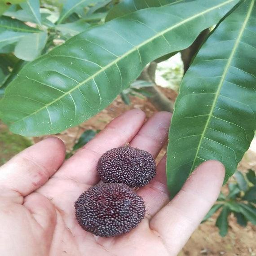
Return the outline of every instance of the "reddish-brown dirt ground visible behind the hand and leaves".
<path id="1" fill-rule="evenodd" d="M 171 100 L 175 100 L 177 94 L 168 88 L 160 88 L 167 97 Z M 146 113 L 146 117 L 149 118 L 157 110 L 147 102 L 139 97 L 131 97 L 131 105 L 125 105 L 124 102 L 118 97 L 110 106 L 93 118 L 87 120 L 78 127 L 70 128 L 56 136 L 61 138 L 65 142 L 67 150 L 71 150 L 75 142 L 78 140 L 84 130 L 88 129 L 103 129 L 106 124 L 113 118 L 120 115 L 126 110 L 141 109 Z M 40 141 L 43 137 L 33 138 L 35 142 Z M 157 162 L 166 151 L 166 146 L 160 152 Z M 238 169 L 245 171 L 248 168 L 256 170 L 256 153 L 248 151 L 242 162 L 238 165 Z M 232 179 L 231 181 L 232 182 Z M 223 187 L 225 192 L 226 187 Z M 195 230 L 179 256 L 256 256 L 256 226 L 248 224 L 246 228 L 239 226 L 236 223 L 234 216 L 229 217 L 229 232 L 224 238 L 218 234 L 218 229 L 215 226 L 216 216 L 215 213 L 212 218 L 204 222 Z"/>

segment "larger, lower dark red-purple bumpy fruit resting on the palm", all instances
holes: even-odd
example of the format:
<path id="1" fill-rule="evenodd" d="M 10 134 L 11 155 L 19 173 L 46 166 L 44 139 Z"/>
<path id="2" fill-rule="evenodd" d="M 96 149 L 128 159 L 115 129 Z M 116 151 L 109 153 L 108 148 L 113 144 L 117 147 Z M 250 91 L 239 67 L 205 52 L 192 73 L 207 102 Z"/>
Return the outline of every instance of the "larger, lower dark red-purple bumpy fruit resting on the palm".
<path id="1" fill-rule="evenodd" d="M 143 199 L 124 184 L 95 185 L 75 202 L 75 216 L 79 225 L 103 237 L 129 232 L 141 222 L 145 212 Z"/>

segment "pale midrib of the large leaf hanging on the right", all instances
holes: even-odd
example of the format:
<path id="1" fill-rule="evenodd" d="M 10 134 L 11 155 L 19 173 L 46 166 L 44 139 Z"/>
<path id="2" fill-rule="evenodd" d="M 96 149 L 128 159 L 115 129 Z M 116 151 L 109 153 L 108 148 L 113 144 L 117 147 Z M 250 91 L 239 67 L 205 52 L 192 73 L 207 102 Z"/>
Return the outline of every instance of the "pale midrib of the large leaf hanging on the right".
<path id="1" fill-rule="evenodd" d="M 230 57 L 229 57 L 229 59 L 228 59 L 228 62 L 227 62 L 227 64 L 226 64 L 226 66 L 225 66 L 223 75 L 222 75 L 222 77 L 221 77 L 221 81 L 220 81 L 220 83 L 219 83 L 219 85 L 218 85 L 218 89 L 217 89 L 217 91 L 216 91 L 216 95 L 215 95 L 214 100 L 213 100 L 213 104 L 212 104 L 212 108 L 211 108 L 210 114 L 209 114 L 209 116 L 208 116 L 208 119 L 207 119 L 207 121 L 206 121 L 206 125 L 205 125 L 205 127 L 204 127 L 204 129 L 203 129 L 203 132 L 202 132 L 202 135 L 201 135 L 201 138 L 200 138 L 200 141 L 199 141 L 199 146 L 198 146 L 198 148 L 197 148 L 197 151 L 196 151 L 196 154 L 195 154 L 195 157 L 194 157 L 194 161 L 193 161 L 193 164 L 192 164 L 192 166 L 191 166 L 189 175 L 190 175 L 191 172 L 193 172 L 193 170 L 194 170 L 194 163 L 195 163 L 196 159 L 198 158 L 198 153 L 199 153 L 199 150 L 200 150 L 200 148 L 201 148 L 201 144 L 202 144 L 202 141 L 203 141 L 205 132 L 206 132 L 206 130 L 207 130 L 207 128 L 208 128 L 210 119 L 212 118 L 213 110 L 214 110 L 214 108 L 215 108 L 215 106 L 216 106 L 217 99 L 218 99 L 218 97 L 219 97 L 219 95 L 220 95 L 221 88 L 222 88 L 222 85 L 223 85 L 224 80 L 225 80 L 225 76 L 227 75 L 227 72 L 228 72 L 228 70 L 229 70 L 229 68 L 230 68 L 231 61 L 232 61 L 232 59 L 233 59 L 233 57 L 234 57 L 234 54 L 235 54 L 235 52 L 236 52 L 236 49 L 238 48 L 238 44 L 240 43 L 241 37 L 242 37 L 242 35 L 243 35 L 243 31 L 245 30 L 245 27 L 246 27 L 246 25 L 247 25 L 247 22 L 248 22 L 248 20 L 249 20 L 249 17 L 250 17 L 250 15 L 251 15 L 251 13 L 252 13 L 252 9 L 253 9 L 253 4 L 254 4 L 254 2 L 255 2 L 255 0 L 252 0 L 251 5 L 249 6 L 247 16 L 246 16 L 246 18 L 245 18 L 245 20 L 244 20 L 244 22 L 243 22 L 243 26 L 241 27 L 240 33 L 239 33 L 239 35 L 238 35 L 238 38 L 237 38 L 237 40 L 235 41 L 234 48 L 232 49 L 232 52 L 230 53 Z"/>

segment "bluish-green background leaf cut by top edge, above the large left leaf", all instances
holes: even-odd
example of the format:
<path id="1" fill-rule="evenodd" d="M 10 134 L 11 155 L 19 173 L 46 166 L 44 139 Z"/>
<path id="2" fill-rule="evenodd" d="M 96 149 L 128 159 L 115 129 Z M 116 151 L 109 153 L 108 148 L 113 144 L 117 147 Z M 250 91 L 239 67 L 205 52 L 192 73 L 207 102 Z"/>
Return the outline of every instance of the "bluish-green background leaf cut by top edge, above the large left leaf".
<path id="1" fill-rule="evenodd" d="M 95 4 L 99 1 L 100 0 L 66 0 L 57 24 L 65 21 L 65 19 L 68 18 L 72 13 L 75 13 L 76 10 L 82 9 L 89 4 Z"/>

